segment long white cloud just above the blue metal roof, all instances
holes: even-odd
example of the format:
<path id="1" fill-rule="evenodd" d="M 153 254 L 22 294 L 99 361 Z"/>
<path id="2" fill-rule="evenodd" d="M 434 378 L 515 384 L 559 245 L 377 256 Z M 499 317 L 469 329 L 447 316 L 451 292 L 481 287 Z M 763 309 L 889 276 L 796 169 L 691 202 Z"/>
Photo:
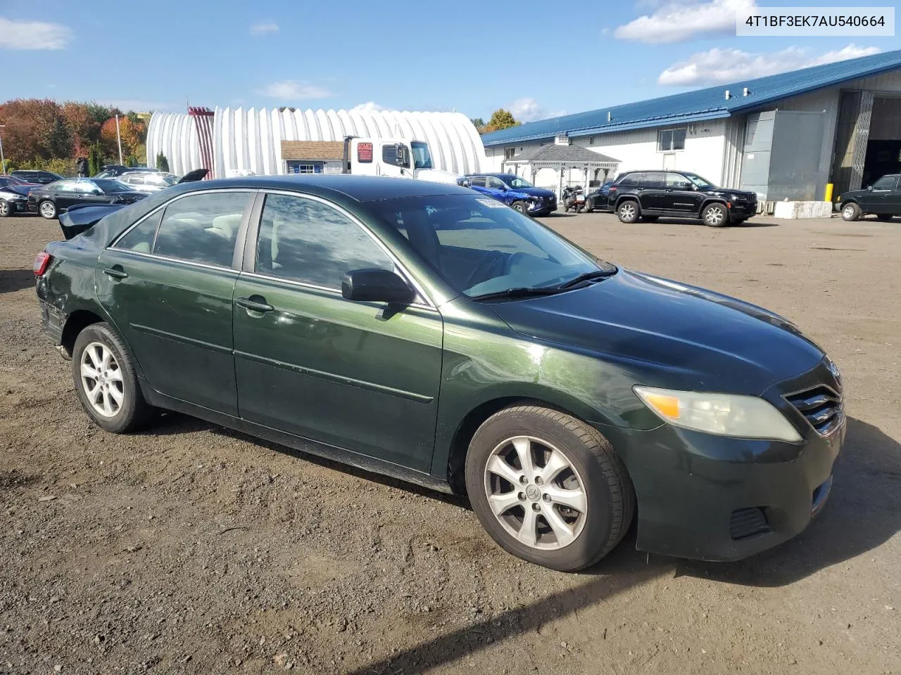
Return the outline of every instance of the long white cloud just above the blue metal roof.
<path id="1" fill-rule="evenodd" d="M 789 70 L 820 66 L 876 54 L 878 47 L 858 47 L 850 44 L 843 49 L 812 56 L 806 49 L 789 47 L 765 54 L 751 54 L 741 49 L 710 49 L 694 54 L 685 61 L 668 67 L 658 78 L 660 85 L 697 86 L 724 85 L 755 77 L 776 75 Z"/>

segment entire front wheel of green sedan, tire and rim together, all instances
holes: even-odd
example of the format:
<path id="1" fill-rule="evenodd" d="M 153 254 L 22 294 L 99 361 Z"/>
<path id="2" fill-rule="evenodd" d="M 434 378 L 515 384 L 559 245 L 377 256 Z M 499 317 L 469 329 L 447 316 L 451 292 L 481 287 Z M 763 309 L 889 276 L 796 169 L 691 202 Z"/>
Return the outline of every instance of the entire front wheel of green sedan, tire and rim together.
<path id="1" fill-rule="evenodd" d="M 525 483 L 519 479 L 530 472 L 523 472 L 522 456 L 534 467 Z M 542 481 L 551 461 L 558 469 Z M 560 572 L 582 570 L 608 554 L 635 509 L 632 482 L 610 442 L 578 419 L 534 405 L 500 410 L 478 428 L 466 457 L 466 487 L 498 545 Z"/>

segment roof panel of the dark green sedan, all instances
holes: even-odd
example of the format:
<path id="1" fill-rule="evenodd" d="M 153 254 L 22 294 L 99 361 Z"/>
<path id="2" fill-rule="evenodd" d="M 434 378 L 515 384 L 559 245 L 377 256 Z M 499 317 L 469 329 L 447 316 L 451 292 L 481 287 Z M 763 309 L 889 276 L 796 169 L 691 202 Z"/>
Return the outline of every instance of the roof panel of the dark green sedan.
<path id="1" fill-rule="evenodd" d="M 472 196 L 466 187 L 445 183 L 432 183 L 412 178 L 388 178 L 376 175 L 242 175 L 234 178 L 216 178 L 174 185 L 168 190 L 190 193 L 199 190 L 228 188 L 254 188 L 257 190 L 289 190 L 319 196 L 344 195 L 357 202 L 375 202 L 402 197 L 432 197 L 440 194 L 465 194 Z M 168 192 L 168 191 L 167 191 Z"/>

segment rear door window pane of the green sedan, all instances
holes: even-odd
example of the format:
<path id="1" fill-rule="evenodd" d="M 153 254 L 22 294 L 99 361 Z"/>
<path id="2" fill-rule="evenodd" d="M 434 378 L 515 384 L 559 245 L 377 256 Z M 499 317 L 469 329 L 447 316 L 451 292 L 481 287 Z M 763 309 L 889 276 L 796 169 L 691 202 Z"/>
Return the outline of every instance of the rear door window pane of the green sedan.
<path id="1" fill-rule="evenodd" d="M 166 207 L 153 252 L 207 265 L 232 266 L 250 193 L 192 194 Z"/>

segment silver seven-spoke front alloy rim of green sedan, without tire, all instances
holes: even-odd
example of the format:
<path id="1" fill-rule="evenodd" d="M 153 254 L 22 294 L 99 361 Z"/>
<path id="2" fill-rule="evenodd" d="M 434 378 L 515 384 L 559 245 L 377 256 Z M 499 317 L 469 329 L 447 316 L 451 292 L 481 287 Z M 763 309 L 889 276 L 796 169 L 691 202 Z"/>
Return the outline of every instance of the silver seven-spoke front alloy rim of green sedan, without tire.
<path id="1" fill-rule="evenodd" d="M 556 551 L 585 527 L 586 483 L 569 457 L 540 438 L 507 438 L 485 466 L 488 506 L 507 533 L 532 548 Z"/>

